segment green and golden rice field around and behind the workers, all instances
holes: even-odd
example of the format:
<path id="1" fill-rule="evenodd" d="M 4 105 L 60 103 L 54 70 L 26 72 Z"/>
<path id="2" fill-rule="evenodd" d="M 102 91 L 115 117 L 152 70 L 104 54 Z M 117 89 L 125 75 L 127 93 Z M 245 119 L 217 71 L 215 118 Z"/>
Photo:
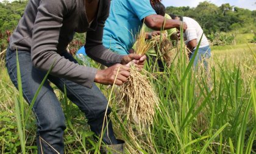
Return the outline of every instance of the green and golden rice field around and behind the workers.
<path id="1" fill-rule="evenodd" d="M 115 88 L 98 85 L 126 153 L 256 153 L 255 51 L 255 44 L 213 47 L 205 73 L 193 69 L 180 47 L 164 72 L 146 74 L 160 103 L 152 124 L 143 127 L 129 121 Z M 4 60 L 0 65 L 0 153 L 37 153 L 34 114 L 10 82 Z M 66 116 L 65 153 L 98 153 L 103 143 L 94 141 L 84 114 L 55 93 Z"/>

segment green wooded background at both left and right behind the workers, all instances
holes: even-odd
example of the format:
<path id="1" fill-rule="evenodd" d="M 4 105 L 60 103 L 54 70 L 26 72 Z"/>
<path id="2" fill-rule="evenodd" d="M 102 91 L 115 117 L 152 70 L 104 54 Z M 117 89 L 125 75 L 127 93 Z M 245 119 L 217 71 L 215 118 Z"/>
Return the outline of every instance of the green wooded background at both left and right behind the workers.
<path id="1" fill-rule="evenodd" d="M 13 30 L 23 16 L 27 1 L 0 2 L 0 32 Z M 167 7 L 167 13 L 189 16 L 201 24 L 205 33 L 241 30 L 256 31 L 256 10 L 233 7 L 229 3 L 218 7 L 211 2 L 200 2 L 197 7 Z"/>

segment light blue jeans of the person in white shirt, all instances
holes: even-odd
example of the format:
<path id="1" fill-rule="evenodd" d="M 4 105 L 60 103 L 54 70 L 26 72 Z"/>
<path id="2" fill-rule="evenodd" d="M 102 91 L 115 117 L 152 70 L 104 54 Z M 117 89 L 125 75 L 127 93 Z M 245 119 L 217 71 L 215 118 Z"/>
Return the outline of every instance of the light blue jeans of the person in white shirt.
<path id="1" fill-rule="evenodd" d="M 194 55 L 194 51 L 196 51 L 196 49 L 194 49 L 190 54 L 190 60 Z M 208 68 L 207 60 L 210 57 L 211 57 L 210 46 L 200 47 L 197 51 L 196 58 L 194 59 L 194 67 L 196 67 L 199 62 L 202 62 L 204 63 L 204 68 L 207 69 Z"/>

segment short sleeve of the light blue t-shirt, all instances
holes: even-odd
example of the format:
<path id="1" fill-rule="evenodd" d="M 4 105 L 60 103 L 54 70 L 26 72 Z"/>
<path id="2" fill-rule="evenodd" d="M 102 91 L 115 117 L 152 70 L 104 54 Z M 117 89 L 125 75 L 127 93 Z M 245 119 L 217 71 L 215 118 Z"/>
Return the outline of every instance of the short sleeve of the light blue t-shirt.
<path id="1" fill-rule="evenodd" d="M 157 14 L 152 8 L 149 0 L 132 0 L 128 2 L 130 3 L 133 12 L 136 13 L 140 20 L 143 20 L 146 16 Z"/>

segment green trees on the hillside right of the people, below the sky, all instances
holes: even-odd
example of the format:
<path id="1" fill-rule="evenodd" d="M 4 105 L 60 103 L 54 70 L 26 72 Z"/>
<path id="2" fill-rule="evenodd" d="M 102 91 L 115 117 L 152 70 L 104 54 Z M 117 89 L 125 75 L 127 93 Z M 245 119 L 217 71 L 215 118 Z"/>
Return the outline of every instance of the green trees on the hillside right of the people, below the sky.
<path id="1" fill-rule="evenodd" d="M 195 8 L 167 7 L 167 13 L 196 19 L 206 34 L 237 31 L 256 31 L 256 11 L 222 4 L 218 7 L 211 2 L 200 2 Z"/>

